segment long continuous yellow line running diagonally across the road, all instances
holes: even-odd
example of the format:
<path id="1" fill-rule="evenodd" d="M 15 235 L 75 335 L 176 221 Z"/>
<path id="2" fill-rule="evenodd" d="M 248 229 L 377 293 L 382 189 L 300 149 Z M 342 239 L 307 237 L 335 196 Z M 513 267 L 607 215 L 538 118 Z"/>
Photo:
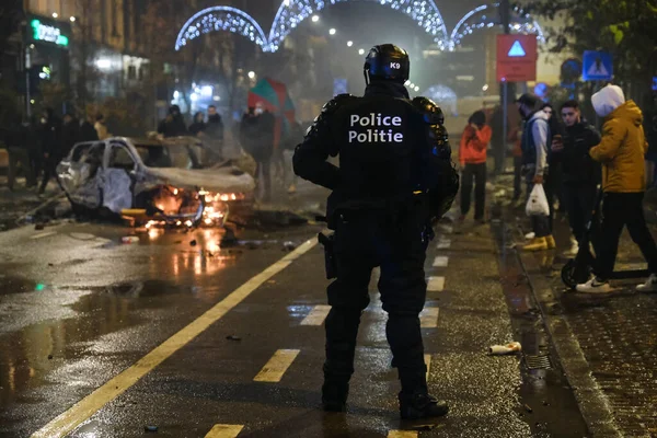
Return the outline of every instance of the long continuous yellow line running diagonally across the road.
<path id="1" fill-rule="evenodd" d="M 210 325 L 219 321 L 261 285 L 288 267 L 293 261 L 312 250 L 316 244 L 316 239 L 302 243 L 295 251 L 233 290 L 228 297 L 215 304 L 210 310 L 194 320 L 186 327 L 164 341 L 160 346 L 139 359 L 139 361 L 130 368 L 111 379 L 107 383 L 76 403 L 46 426 L 35 431 L 32 435 L 32 438 L 58 438 L 68 435 L 82 422 L 87 420 L 104 405 L 123 394 L 128 388 L 137 383 L 139 379 L 152 371 L 158 365 L 162 364 L 171 355 L 187 345 Z"/>

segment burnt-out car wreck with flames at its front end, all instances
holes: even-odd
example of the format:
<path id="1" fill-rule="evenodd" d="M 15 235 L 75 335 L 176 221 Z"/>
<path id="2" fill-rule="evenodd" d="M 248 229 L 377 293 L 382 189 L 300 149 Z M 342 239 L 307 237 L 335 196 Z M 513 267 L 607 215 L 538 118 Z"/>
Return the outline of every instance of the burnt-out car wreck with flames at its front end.
<path id="1" fill-rule="evenodd" d="M 196 138 L 110 138 L 76 145 L 57 166 L 73 211 L 111 212 L 166 226 L 222 226 L 232 205 L 253 201 L 252 175 L 211 162 Z"/>

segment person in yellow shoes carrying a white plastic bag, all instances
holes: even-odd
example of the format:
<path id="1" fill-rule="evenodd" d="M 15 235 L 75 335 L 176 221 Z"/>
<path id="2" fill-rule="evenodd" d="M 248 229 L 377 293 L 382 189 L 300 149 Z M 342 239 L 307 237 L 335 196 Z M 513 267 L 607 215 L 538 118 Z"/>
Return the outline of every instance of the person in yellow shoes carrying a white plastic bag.
<path id="1" fill-rule="evenodd" d="M 517 101 L 518 112 L 525 119 L 522 131 L 522 166 L 527 176 L 527 194 L 535 184 L 542 184 L 548 199 L 552 199 L 552 185 L 548 153 L 552 142 L 550 116 L 541 110 L 543 102 L 532 94 L 522 94 Z M 525 251 L 545 251 L 556 246 L 552 237 L 552 203 L 549 216 L 532 216 L 534 238 L 523 246 Z"/>

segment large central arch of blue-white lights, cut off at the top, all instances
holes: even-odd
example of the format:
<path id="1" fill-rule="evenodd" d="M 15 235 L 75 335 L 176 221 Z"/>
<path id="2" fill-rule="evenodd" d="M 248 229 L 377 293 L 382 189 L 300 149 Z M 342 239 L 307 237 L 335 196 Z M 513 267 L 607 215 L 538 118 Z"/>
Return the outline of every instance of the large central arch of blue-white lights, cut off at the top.
<path id="1" fill-rule="evenodd" d="M 265 51 L 278 50 L 283 41 L 303 20 L 313 16 L 326 5 L 349 0 L 286 0 L 278 8 L 278 13 L 269 32 L 269 44 Z M 449 45 L 449 34 L 442 16 L 433 0 L 366 0 L 387 5 L 413 19 L 427 34 L 431 35 L 438 47 L 445 49 Z M 313 19 L 314 20 L 314 19 Z"/>

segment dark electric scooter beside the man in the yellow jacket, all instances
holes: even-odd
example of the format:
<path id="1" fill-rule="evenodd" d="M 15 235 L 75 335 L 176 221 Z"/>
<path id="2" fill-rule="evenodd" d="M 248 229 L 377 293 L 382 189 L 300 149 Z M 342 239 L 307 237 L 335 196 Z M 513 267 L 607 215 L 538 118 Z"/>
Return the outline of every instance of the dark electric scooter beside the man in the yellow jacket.
<path id="1" fill-rule="evenodd" d="M 591 220 L 586 226 L 586 233 L 579 242 L 579 251 L 575 258 L 570 258 L 562 268 L 562 281 L 570 289 L 577 285 L 588 281 L 591 278 L 596 256 L 591 253 L 591 244 L 598 253 L 598 242 L 600 234 L 600 206 L 602 204 L 602 189 L 598 188 L 596 204 L 591 215 Z M 614 270 L 609 279 L 621 280 L 629 278 L 647 278 L 650 275 L 648 269 Z"/>

